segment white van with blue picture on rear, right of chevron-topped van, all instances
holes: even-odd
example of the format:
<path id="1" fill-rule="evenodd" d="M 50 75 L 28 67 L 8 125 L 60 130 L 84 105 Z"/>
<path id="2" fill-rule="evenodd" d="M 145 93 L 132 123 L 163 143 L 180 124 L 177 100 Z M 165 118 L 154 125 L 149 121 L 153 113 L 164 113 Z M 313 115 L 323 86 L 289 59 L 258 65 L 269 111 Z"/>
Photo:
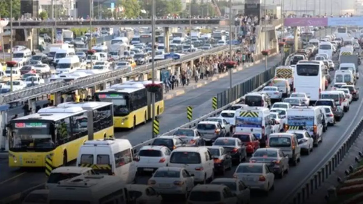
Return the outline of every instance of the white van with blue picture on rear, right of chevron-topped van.
<path id="1" fill-rule="evenodd" d="M 323 94 L 323 93 L 322 93 Z M 287 130 L 306 130 L 314 139 L 314 145 L 323 141 L 322 112 L 318 106 L 293 106 L 287 109 Z"/>

